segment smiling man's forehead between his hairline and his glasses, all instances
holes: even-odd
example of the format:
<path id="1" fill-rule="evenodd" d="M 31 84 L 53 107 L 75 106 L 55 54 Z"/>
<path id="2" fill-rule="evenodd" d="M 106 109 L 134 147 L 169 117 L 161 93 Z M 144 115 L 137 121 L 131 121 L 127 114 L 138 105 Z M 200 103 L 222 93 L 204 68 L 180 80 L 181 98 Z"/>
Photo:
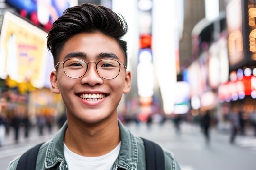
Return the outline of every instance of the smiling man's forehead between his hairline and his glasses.
<path id="1" fill-rule="evenodd" d="M 65 42 L 60 51 L 59 61 L 63 61 L 68 56 L 73 56 L 74 53 L 85 54 L 84 58 L 87 61 L 95 61 L 104 53 L 116 55 L 117 60 L 124 61 L 124 54 L 117 41 L 101 33 L 79 33 L 72 36 Z M 77 57 L 81 58 L 81 56 Z"/>

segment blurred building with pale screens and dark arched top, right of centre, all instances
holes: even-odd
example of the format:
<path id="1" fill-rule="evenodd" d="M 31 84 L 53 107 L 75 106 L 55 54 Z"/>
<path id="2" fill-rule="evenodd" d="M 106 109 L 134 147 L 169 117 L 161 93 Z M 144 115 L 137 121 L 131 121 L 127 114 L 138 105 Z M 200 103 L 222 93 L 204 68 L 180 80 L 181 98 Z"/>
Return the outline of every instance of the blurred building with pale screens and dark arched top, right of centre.
<path id="1" fill-rule="evenodd" d="M 189 84 L 189 119 L 198 121 L 206 110 L 220 118 L 218 85 L 228 76 L 226 15 L 220 13 L 214 20 L 202 19 L 192 30 L 191 64 L 183 71 L 183 81 Z"/>

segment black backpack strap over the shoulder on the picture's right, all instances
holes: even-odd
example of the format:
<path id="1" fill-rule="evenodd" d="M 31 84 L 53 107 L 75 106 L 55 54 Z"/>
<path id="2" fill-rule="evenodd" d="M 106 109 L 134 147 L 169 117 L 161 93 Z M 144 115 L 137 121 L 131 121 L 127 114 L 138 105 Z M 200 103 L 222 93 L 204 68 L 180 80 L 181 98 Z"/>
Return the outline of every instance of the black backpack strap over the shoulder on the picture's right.
<path id="1" fill-rule="evenodd" d="M 142 138 L 145 146 L 146 170 L 165 170 L 164 153 L 161 147 Z"/>

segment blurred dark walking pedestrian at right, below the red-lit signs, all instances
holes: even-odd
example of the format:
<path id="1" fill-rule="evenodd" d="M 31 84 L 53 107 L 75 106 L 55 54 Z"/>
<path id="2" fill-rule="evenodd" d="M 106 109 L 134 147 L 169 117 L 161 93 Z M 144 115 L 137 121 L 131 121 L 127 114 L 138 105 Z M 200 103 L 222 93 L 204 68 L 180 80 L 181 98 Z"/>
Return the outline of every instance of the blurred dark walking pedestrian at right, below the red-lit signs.
<path id="1" fill-rule="evenodd" d="M 237 136 L 238 133 L 238 128 L 240 127 L 237 107 L 232 108 L 232 110 L 229 112 L 229 121 L 231 123 L 230 143 L 234 144 L 235 137 Z"/>

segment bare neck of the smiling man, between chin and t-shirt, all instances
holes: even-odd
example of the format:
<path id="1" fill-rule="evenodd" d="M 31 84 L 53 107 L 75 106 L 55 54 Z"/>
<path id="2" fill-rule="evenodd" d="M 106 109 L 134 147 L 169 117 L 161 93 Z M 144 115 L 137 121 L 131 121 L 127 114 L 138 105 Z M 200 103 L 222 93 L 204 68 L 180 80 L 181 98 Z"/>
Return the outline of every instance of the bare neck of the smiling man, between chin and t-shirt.
<path id="1" fill-rule="evenodd" d="M 66 146 L 82 156 L 102 156 L 112 151 L 120 143 L 117 116 L 98 123 L 85 123 L 68 116 L 65 132 Z"/>

